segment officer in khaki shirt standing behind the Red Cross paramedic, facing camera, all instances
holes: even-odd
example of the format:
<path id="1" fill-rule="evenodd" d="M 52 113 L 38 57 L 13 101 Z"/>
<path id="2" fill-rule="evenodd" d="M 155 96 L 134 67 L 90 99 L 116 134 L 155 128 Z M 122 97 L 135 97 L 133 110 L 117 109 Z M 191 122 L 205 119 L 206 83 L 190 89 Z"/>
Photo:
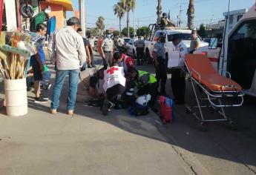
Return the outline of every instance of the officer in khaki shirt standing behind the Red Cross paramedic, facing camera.
<path id="1" fill-rule="evenodd" d="M 106 38 L 103 40 L 101 45 L 101 50 L 102 50 L 102 59 L 104 61 L 105 69 L 108 67 L 108 65 L 111 67 L 113 50 L 114 50 L 114 42 L 111 39 L 110 33 L 108 33 Z"/>

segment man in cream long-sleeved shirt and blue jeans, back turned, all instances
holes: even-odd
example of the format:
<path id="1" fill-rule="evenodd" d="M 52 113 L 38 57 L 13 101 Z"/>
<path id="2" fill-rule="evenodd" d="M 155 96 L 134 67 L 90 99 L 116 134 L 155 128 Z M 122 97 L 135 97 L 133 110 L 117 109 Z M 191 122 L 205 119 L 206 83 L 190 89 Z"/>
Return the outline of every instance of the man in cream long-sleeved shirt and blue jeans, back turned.
<path id="1" fill-rule="evenodd" d="M 79 19 L 72 17 L 68 19 L 67 25 L 53 33 L 48 44 L 50 59 L 56 62 L 56 79 L 50 112 L 56 114 L 65 78 L 69 76 L 67 108 L 68 114 L 73 115 L 79 82 L 79 70 L 85 64 L 86 53 L 82 37 L 76 32 L 80 26 Z"/>

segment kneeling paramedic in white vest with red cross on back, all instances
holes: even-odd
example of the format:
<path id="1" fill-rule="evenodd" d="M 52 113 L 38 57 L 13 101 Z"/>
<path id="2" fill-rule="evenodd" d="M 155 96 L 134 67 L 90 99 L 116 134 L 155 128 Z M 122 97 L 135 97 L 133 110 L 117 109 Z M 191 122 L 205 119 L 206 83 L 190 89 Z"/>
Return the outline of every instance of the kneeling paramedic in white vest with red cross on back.
<path id="1" fill-rule="evenodd" d="M 106 98 L 102 105 L 102 114 L 106 116 L 109 108 L 113 108 L 117 103 L 117 96 L 125 92 L 125 73 L 123 67 L 118 66 L 118 62 L 114 62 L 108 70 L 104 70 L 103 89 Z"/>

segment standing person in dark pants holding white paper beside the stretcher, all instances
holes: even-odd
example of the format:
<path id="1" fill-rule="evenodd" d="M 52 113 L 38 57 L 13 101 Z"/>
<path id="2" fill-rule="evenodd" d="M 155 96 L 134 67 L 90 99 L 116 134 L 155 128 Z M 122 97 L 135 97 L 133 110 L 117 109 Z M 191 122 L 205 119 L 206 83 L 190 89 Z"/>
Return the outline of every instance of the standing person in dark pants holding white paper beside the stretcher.
<path id="1" fill-rule="evenodd" d="M 185 66 L 185 55 L 188 53 L 188 48 L 181 41 L 180 34 L 174 34 L 172 43 L 180 54 L 180 60 L 179 65 L 171 69 L 171 88 L 175 97 L 174 102 L 177 105 L 183 105 L 186 89 L 186 73 L 183 69 Z"/>

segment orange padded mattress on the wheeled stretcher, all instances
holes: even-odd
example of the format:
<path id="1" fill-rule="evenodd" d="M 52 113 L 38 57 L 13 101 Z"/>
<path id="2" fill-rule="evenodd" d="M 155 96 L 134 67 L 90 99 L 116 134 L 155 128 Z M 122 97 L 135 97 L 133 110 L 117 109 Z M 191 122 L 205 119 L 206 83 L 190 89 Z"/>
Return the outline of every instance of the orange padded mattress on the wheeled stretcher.
<path id="1" fill-rule="evenodd" d="M 224 76 L 220 76 L 210 60 L 201 54 L 186 54 L 185 61 L 191 76 L 212 91 L 241 91 L 242 87 Z M 197 73 L 195 71 L 197 71 Z M 200 76 L 198 75 L 200 74 Z"/>

